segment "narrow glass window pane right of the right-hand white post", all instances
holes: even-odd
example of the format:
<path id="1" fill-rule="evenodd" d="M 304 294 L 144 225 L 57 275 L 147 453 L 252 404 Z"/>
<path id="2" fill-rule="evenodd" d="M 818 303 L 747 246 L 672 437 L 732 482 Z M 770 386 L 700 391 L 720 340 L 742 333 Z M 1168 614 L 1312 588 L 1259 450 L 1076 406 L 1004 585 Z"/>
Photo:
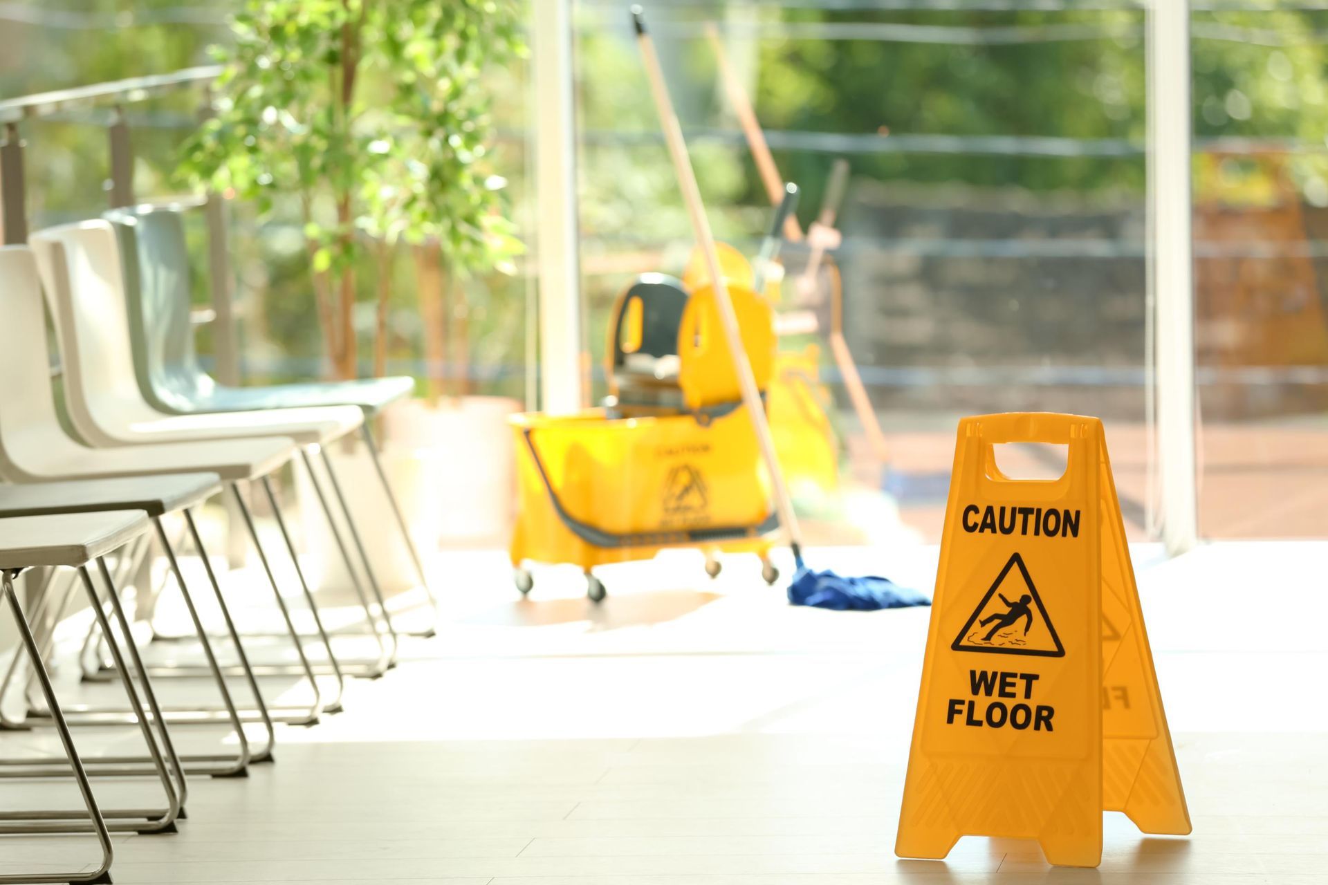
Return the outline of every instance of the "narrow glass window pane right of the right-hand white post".
<path id="1" fill-rule="evenodd" d="M 1191 20 L 1199 531 L 1323 536 L 1328 12 L 1216 5 Z"/>

